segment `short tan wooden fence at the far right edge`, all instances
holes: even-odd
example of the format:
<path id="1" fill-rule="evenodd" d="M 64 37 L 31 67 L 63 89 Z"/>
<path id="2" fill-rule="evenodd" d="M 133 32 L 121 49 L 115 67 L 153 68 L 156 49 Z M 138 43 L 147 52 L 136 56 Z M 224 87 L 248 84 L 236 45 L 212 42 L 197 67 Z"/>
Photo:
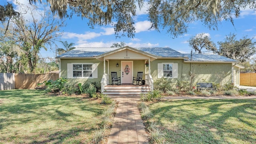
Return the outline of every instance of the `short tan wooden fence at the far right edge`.
<path id="1" fill-rule="evenodd" d="M 256 73 L 240 73 L 240 85 L 256 86 Z"/>

